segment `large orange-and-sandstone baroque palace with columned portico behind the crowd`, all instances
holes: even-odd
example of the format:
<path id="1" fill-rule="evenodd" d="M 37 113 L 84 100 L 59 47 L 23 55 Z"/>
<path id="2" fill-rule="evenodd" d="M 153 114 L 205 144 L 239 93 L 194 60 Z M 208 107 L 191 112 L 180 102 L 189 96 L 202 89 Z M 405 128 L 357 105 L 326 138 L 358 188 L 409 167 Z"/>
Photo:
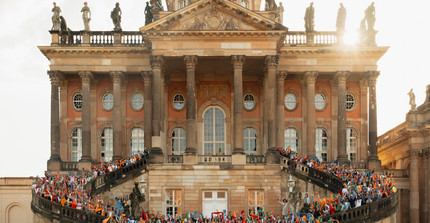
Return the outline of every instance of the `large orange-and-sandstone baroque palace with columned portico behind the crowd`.
<path id="1" fill-rule="evenodd" d="M 378 169 L 377 61 L 388 47 L 373 30 L 356 46 L 342 32 L 290 31 L 260 4 L 168 0 L 139 31 L 51 31 L 39 47 L 52 87 L 48 170 L 147 149 L 145 171 L 103 196 L 138 181 L 145 210 L 207 215 L 279 213 L 289 189 L 280 147 Z"/>

